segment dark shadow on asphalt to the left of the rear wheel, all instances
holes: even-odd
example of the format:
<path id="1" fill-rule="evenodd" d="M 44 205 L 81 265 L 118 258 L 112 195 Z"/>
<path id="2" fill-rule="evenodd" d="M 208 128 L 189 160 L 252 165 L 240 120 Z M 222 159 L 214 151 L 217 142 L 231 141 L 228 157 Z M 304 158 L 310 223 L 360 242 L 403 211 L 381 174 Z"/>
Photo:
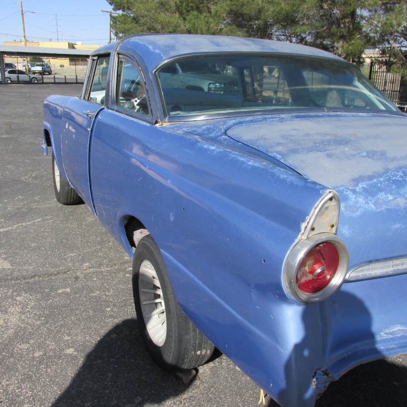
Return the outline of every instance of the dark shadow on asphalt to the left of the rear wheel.
<path id="1" fill-rule="evenodd" d="M 152 362 L 137 321 L 127 319 L 99 340 L 52 407 L 158 404 L 187 387 Z"/>

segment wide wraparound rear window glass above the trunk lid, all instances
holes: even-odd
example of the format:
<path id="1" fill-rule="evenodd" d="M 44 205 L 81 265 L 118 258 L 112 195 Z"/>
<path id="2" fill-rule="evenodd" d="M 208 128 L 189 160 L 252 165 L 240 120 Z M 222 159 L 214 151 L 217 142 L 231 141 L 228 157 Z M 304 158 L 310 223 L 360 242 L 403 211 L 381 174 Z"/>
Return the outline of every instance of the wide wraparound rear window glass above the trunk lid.
<path id="1" fill-rule="evenodd" d="M 346 62 L 304 56 L 194 57 L 157 71 L 168 115 L 297 108 L 398 109 Z"/>

